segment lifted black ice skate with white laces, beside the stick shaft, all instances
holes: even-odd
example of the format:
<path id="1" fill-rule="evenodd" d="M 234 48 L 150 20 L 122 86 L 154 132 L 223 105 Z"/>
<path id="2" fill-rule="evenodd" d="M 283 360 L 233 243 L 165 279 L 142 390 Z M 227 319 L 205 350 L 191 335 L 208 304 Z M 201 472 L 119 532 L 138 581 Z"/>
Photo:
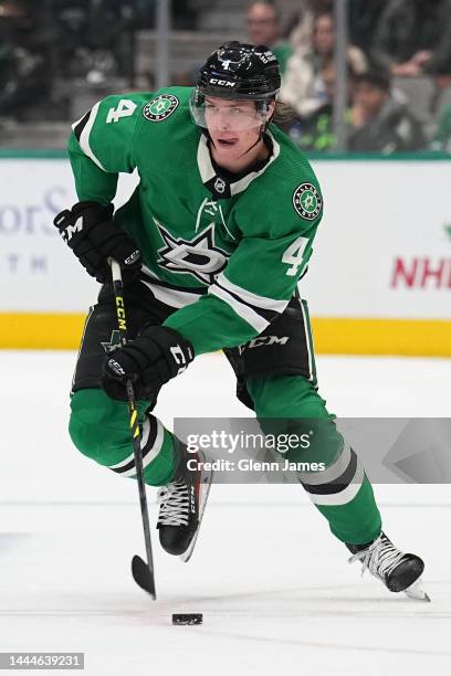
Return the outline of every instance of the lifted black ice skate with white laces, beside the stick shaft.
<path id="1" fill-rule="evenodd" d="M 161 486 L 158 493 L 160 508 L 157 524 L 161 547 L 185 562 L 195 549 L 212 479 L 211 471 L 189 469 L 188 461 L 191 461 L 190 464 L 196 461 L 202 463 L 204 457 L 201 453 L 187 453 L 182 446 L 174 482 Z"/>

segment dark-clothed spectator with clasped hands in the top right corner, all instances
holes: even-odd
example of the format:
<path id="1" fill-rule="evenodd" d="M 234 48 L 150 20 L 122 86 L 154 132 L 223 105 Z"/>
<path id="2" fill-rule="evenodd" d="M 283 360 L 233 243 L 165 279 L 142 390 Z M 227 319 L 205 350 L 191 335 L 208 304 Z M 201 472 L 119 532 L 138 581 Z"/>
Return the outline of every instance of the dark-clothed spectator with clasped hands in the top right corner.
<path id="1" fill-rule="evenodd" d="M 371 60 L 391 75 L 451 73 L 451 0 L 389 0 L 377 23 Z"/>

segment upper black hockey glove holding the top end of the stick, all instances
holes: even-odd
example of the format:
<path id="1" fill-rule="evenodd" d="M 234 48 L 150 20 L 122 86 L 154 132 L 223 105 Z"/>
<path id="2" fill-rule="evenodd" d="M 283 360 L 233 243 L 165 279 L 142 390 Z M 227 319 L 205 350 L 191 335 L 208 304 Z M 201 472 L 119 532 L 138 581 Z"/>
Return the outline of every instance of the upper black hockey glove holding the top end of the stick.
<path id="1" fill-rule="evenodd" d="M 59 213 L 53 223 L 97 282 L 111 281 L 108 257 L 112 257 L 122 267 L 124 284 L 129 284 L 139 274 L 140 253 L 135 242 L 113 221 L 113 204 L 78 202 L 71 210 Z"/>

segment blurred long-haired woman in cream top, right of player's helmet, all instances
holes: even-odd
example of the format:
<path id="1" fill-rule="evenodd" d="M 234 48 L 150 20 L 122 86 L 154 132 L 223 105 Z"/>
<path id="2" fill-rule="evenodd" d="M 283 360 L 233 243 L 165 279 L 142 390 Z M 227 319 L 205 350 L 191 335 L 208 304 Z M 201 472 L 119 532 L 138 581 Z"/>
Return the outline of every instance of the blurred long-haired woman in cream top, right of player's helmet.
<path id="1" fill-rule="evenodd" d="M 312 45 L 298 49 L 289 59 L 281 87 L 281 101 L 307 118 L 327 103 L 322 74 L 334 63 L 334 17 L 326 12 L 315 18 Z M 363 73 L 367 67 L 365 54 L 355 46 L 348 47 L 348 67 L 353 73 Z"/>

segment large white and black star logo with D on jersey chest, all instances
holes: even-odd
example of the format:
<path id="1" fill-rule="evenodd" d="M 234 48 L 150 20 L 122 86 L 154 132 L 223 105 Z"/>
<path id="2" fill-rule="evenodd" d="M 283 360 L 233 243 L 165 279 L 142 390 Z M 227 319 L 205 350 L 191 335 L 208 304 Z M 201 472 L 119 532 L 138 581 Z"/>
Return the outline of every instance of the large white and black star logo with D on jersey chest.
<path id="1" fill-rule="evenodd" d="M 214 246 L 214 223 L 192 240 L 174 237 L 154 219 L 165 246 L 158 250 L 158 265 L 175 273 L 188 273 L 202 284 L 212 284 L 228 263 L 229 254 Z"/>

